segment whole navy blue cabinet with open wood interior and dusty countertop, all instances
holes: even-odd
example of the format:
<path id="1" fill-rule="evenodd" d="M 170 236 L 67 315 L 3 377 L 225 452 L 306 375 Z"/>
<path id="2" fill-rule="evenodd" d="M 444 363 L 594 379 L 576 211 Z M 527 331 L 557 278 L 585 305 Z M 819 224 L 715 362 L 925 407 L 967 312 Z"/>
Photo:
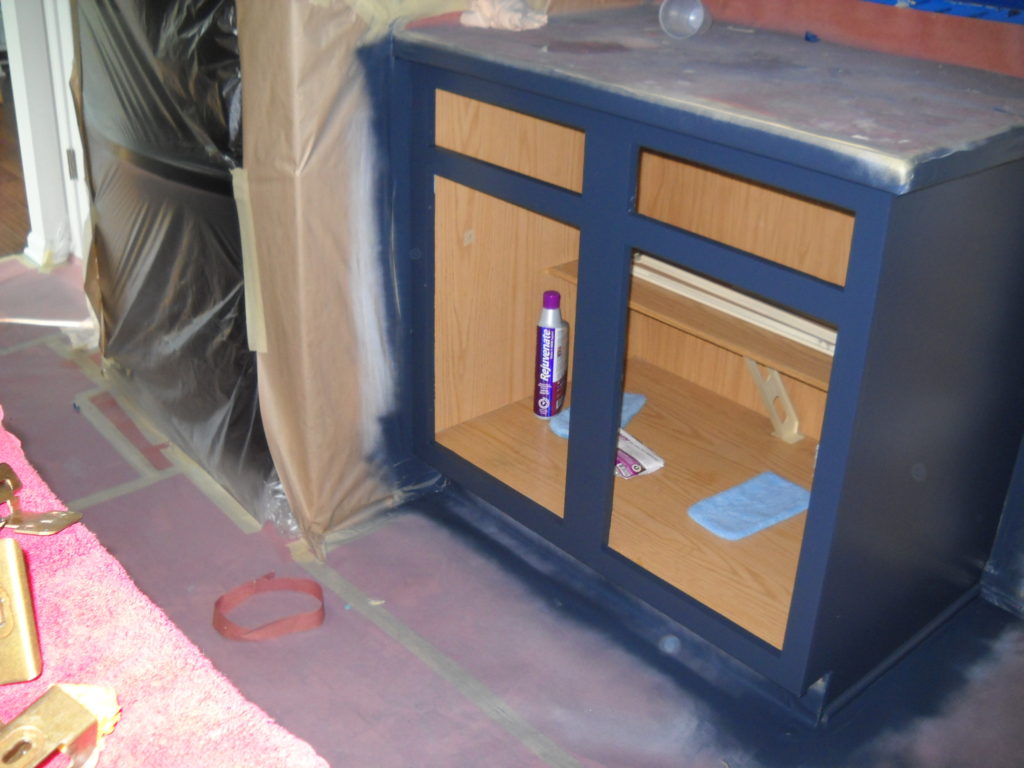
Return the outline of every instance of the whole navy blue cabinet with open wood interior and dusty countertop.
<path id="1" fill-rule="evenodd" d="M 977 594 L 1024 425 L 1024 83 L 648 8 L 394 46 L 422 457 L 820 706 Z M 530 410 L 545 290 L 567 440 Z M 630 479 L 624 392 L 665 460 Z M 806 512 L 688 515 L 766 472 Z"/>

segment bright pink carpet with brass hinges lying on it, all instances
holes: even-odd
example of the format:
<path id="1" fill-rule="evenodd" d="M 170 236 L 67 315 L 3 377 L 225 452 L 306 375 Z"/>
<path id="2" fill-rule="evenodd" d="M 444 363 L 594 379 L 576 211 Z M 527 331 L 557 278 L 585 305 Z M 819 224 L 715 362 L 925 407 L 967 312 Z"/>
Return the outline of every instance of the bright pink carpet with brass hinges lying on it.
<path id="1" fill-rule="evenodd" d="M 0 409 L 0 462 L 22 479 L 23 508 L 65 509 L 2 422 Z M 327 768 L 243 697 L 84 525 L 50 537 L 0 529 L 0 537 L 25 550 L 43 658 L 37 680 L 0 686 L 0 721 L 55 683 L 103 685 L 117 691 L 122 716 L 100 768 Z M 47 765 L 67 764 L 58 756 Z"/>

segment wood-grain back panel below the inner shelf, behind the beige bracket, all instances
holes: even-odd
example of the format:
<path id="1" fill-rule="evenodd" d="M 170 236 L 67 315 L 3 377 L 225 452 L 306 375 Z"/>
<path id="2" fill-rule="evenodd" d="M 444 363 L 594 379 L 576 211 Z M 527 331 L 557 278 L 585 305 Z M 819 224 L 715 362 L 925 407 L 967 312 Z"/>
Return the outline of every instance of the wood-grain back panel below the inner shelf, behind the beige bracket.
<path id="1" fill-rule="evenodd" d="M 740 354 L 639 312 L 630 312 L 629 353 L 768 418 Z M 800 431 L 820 439 L 826 393 L 786 374 L 782 381 L 800 417 Z M 765 429 L 771 432 L 767 423 Z"/>

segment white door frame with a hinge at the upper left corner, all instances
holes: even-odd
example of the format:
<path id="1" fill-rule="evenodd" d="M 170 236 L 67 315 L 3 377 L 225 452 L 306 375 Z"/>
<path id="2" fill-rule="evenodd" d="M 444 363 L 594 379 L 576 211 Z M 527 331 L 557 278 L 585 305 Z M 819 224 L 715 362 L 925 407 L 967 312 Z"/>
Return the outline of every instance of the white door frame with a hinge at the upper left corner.
<path id="1" fill-rule="evenodd" d="M 25 255 L 40 266 L 84 258 L 91 239 L 82 139 L 68 85 L 75 55 L 71 20 L 67 0 L 3 5 L 29 207 Z"/>

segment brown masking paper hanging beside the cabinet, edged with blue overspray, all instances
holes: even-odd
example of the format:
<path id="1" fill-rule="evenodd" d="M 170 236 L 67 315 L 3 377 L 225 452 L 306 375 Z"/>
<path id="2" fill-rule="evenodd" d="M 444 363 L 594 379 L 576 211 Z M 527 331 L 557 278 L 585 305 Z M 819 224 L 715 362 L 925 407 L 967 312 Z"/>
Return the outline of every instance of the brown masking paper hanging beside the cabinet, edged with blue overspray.
<path id="1" fill-rule="evenodd" d="M 402 411 L 409 308 L 389 245 L 387 35 L 399 18 L 468 6 L 239 0 L 246 130 L 237 196 L 251 218 L 247 290 L 262 308 L 250 338 L 264 342 L 259 399 L 274 464 L 317 549 L 438 480 L 411 458 Z"/>

